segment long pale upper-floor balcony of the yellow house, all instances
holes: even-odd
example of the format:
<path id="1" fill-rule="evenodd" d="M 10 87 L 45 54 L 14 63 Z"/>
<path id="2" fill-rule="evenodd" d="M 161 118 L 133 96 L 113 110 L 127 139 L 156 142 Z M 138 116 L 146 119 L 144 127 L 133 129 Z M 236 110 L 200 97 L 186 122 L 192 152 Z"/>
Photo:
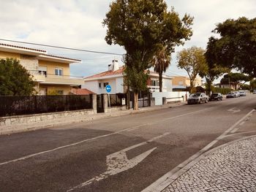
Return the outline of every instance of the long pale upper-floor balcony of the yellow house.
<path id="1" fill-rule="evenodd" d="M 78 86 L 83 84 L 82 77 L 72 77 L 67 75 L 55 75 L 55 74 L 42 74 L 40 72 L 31 72 L 33 80 L 39 82 L 39 84 L 55 84 L 55 85 L 73 85 Z"/>

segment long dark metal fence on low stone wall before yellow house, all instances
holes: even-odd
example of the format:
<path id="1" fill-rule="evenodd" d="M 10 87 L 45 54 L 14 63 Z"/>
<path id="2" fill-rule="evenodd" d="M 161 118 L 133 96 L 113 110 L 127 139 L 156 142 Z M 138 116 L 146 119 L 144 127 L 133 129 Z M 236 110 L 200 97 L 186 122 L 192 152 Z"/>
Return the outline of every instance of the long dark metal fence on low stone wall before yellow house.
<path id="1" fill-rule="evenodd" d="M 0 117 L 92 109 L 90 95 L 0 96 Z"/>

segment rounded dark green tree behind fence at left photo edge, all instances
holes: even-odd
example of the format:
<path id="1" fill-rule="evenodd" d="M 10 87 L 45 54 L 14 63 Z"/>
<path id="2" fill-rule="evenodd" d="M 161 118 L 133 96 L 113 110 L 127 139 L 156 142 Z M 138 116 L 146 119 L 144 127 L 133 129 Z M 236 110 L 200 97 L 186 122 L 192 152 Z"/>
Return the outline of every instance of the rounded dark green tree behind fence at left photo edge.
<path id="1" fill-rule="evenodd" d="M 34 81 L 17 59 L 0 60 L 0 95 L 29 96 L 35 92 Z"/>

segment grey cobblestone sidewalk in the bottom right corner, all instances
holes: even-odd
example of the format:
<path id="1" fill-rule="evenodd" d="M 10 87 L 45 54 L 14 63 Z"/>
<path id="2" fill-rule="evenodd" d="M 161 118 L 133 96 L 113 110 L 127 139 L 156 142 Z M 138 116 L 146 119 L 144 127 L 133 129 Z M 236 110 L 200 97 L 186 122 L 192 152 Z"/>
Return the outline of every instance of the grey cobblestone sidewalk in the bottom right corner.
<path id="1" fill-rule="evenodd" d="M 209 153 L 162 192 L 256 191 L 256 137 Z"/>

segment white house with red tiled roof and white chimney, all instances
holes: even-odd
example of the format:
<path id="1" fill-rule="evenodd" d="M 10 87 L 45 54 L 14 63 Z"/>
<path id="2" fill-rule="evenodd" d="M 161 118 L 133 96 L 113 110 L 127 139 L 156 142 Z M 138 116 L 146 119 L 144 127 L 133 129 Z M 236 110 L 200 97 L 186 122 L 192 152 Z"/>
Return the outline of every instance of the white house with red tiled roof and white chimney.
<path id="1" fill-rule="evenodd" d="M 85 77 L 84 85 L 81 87 L 89 89 L 94 93 L 101 94 L 107 93 L 105 87 L 106 85 L 110 85 L 112 88 L 110 93 L 126 93 L 126 87 L 124 86 L 124 76 L 124 66 L 119 67 L 118 61 L 113 60 L 112 64 L 108 65 L 108 71 L 94 74 L 90 77 Z M 158 78 L 158 73 L 150 72 L 147 85 L 151 92 L 159 92 Z M 164 92 L 173 91 L 172 77 L 163 75 L 162 88 Z"/>

